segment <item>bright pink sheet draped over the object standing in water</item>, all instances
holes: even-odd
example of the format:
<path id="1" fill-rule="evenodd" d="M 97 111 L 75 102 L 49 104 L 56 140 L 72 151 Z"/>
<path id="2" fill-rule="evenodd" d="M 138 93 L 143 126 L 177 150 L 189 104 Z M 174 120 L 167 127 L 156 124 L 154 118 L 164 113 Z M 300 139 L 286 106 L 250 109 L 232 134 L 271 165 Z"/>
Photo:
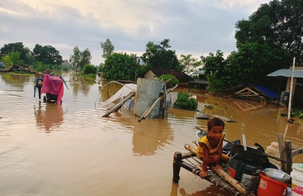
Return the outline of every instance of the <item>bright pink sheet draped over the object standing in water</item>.
<path id="1" fill-rule="evenodd" d="M 58 95 L 57 103 L 61 103 L 63 92 L 64 92 L 64 87 L 61 78 L 57 76 L 49 76 L 48 74 L 44 75 L 41 93 Z"/>

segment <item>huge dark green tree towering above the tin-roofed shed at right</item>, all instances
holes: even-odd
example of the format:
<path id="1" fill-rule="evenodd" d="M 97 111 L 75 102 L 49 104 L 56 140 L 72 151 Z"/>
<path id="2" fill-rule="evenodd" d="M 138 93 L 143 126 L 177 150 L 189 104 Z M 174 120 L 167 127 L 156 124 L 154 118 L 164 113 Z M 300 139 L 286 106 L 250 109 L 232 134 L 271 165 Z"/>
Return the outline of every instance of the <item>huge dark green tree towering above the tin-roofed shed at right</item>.
<path id="1" fill-rule="evenodd" d="M 263 4 L 248 20 L 236 23 L 237 48 L 242 63 L 267 75 L 292 58 L 303 62 L 303 2 L 274 0 Z M 249 55 L 245 52 L 249 51 Z M 248 65 L 249 64 L 249 65 Z"/>

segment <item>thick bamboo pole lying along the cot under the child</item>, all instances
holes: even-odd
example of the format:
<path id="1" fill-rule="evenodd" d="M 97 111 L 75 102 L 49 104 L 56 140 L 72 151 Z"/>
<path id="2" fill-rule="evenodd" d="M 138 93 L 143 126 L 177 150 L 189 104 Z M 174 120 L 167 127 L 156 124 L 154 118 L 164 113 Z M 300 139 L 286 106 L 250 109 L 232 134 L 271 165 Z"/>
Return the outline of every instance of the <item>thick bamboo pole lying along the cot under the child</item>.
<path id="1" fill-rule="evenodd" d="M 196 154 L 196 149 L 189 144 L 184 145 L 185 149 Z M 248 190 L 243 184 L 238 182 L 236 179 L 232 178 L 230 175 L 228 175 L 223 169 L 218 168 L 216 169 L 215 166 L 211 166 L 211 169 L 215 171 L 221 178 L 223 178 L 225 181 L 227 181 L 230 185 L 232 185 L 234 188 L 236 188 L 240 193 L 247 196 L 255 196 L 255 194 Z"/>

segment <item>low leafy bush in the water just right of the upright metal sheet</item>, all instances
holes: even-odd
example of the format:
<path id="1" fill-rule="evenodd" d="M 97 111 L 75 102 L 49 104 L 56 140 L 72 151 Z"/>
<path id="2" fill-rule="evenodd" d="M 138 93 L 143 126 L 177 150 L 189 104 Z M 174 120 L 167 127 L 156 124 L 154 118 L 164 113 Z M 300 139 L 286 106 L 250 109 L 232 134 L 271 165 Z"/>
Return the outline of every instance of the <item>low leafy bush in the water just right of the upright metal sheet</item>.
<path id="1" fill-rule="evenodd" d="M 178 98 L 174 104 L 174 107 L 194 110 L 198 107 L 198 102 L 194 98 L 189 98 L 188 93 L 178 92 Z"/>

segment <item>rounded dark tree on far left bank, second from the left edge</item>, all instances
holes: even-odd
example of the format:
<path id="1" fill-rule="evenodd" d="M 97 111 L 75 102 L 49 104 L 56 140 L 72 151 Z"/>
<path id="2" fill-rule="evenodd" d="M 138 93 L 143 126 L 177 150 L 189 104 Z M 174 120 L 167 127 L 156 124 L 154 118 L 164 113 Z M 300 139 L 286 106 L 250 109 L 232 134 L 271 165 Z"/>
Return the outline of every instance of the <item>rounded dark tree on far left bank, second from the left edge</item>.
<path id="1" fill-rule="evenodd" d="M 53 46 L 41 46 L 39 44 L 35 45 L 33 49 L 35 60 L 42 62 L 44 64 L 52 64 L 54 66 L 60 65 L 63 62 L 60 52 L 56 50 Z"/>

